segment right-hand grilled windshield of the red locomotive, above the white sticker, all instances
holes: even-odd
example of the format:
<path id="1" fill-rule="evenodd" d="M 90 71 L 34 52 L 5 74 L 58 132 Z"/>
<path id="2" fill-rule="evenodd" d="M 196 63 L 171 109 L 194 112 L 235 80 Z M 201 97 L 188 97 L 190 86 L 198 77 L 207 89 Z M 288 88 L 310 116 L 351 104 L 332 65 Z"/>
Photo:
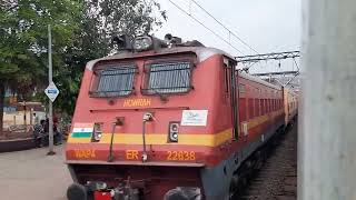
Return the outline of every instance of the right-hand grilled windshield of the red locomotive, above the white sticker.
<path id="1" fill-rule="evenodd" d="M 148 94 L 188 92 L 191 88 L 190 77 L 190 62 L 154 63 L 149 66 L 144 91 Z"/>

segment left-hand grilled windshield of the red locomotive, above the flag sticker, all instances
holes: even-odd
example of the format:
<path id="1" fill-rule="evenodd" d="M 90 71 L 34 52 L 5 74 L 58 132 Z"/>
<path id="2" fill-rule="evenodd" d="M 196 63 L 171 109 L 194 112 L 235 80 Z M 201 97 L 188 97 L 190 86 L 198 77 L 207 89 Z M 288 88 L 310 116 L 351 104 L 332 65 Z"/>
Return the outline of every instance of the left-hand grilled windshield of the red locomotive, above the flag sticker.
<path id="1" fill-rule="evenodd" d="M 97 97 L 128 96 L 134 89 L 135 66 L 111 67 L 97 72 L 97 87 L 91 92 Z"/>

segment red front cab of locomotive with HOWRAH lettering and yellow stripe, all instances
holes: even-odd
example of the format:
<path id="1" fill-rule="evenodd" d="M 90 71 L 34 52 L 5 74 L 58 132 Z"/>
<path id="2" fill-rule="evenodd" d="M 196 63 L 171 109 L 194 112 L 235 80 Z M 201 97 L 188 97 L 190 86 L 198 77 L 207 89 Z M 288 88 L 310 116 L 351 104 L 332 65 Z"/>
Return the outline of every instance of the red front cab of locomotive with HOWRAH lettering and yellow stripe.
<path id="1" fill-rule="evenodd" d="M 222 66 L 222 53 L 204 47 L 89 62 L 66 148 L 79 183 L 69 196 L 202 198 L 201 170 L 218 162 L 215 149 L 233 138 L 231 124 L 216 126 L 229 121 L 217 109 Z"/>

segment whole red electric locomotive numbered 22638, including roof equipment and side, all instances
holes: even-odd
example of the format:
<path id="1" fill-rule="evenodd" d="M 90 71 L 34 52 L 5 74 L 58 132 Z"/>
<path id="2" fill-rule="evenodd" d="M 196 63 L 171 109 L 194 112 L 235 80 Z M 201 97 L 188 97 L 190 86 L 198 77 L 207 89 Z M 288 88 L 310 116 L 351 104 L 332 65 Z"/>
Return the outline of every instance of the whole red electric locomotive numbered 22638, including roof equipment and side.
<path id="1" fill-rule="evenodd" d="M 283 88 L 197 41 L 116 41 L 120 53 L 86 67 L 66 147 L 68 199 L 229 199 L 285 126 Z"/>

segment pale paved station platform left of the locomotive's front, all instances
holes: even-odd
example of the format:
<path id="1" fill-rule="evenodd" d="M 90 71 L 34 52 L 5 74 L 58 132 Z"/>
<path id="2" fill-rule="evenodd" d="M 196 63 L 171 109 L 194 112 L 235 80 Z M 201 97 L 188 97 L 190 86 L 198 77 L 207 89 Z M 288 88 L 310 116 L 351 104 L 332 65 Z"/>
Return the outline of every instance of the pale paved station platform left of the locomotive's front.
<path id="1" fill-rule="evenodd" d="M 0 199 L 67 200 L 72 180 L 63 146 L 55 151 L 55 156 L 47 156 L 48 148 L 0 153 Z"/>

